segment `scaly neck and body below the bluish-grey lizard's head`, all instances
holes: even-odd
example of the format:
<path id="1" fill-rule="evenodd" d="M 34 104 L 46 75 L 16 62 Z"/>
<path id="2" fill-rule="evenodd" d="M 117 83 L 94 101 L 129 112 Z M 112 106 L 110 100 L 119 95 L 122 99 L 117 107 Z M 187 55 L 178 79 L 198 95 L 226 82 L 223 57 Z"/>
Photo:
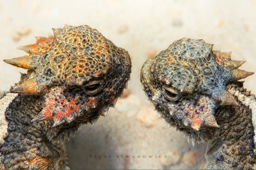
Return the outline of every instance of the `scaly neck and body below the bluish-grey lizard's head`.
<path id="1" fill-rule="evenodd" d="M 221 106 L 215 117 L 220 126 L 214 140 L 208 142 L 205 157 L 207 169 L 255 169 L 255 118 L 254 95 L 243 88 L 241 82 L 227 85 L 237 98 L 240 107 Z"/>

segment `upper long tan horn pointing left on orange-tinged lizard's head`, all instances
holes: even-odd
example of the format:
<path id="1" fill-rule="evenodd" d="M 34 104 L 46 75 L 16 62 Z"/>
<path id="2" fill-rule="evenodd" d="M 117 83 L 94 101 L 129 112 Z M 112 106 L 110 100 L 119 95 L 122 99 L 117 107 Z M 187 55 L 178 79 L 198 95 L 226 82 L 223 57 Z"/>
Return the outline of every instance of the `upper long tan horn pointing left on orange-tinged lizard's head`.
<path id="1" fill-rule="evenodd" d="M 4 62 L 11 64 L 16 67 L 24 68 L 24 69 L 32 69 L 31 66 L 32 56 L 23 56 L 12 59 L 4 60 Z"/>

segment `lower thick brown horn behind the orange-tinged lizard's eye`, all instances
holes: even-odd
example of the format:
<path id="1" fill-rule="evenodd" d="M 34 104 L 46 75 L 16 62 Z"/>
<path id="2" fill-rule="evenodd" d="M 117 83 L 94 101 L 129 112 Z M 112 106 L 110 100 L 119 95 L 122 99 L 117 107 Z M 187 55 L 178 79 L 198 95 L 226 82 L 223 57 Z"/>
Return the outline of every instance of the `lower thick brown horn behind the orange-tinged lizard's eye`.
<path id="1" fill-rule="evenodd" d="M 10 92 L 26 95 L 40 95 L 47 92 L 47 87 L 44 84 L 37 84 L 34 79 L 29 79 L 11 89 Z"/>

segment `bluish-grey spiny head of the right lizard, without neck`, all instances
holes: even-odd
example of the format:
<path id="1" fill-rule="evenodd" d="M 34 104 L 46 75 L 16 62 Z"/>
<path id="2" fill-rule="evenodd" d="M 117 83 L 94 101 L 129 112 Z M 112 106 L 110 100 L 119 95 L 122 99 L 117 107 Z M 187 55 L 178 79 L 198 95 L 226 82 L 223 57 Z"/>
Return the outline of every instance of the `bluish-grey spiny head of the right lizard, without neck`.
<path id="1" fill-rule="evenodd" d="M 140 81 L 169 127 L 204 141 L 205 128 L 219 128 L 216 109 L 239 105 L 226 84 L 253 74 L 237 69 L 243 63 L 231 60 L 230 53 L 212 51 L 204 40 L 182 38 L 143 64 Z"/>

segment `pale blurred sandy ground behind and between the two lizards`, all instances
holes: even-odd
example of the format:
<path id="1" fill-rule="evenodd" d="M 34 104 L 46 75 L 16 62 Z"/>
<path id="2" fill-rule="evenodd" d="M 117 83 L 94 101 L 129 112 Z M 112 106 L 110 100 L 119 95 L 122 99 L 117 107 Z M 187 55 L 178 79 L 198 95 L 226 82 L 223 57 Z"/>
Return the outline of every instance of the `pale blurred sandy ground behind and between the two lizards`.
<path id="1" fill-rule="evenodd" d="M 195 169 L 205 162 L 205 144 L 192 146 L 167 128 L 141 90 L 144 61 L 183 37 L 204 39 L 214 50 L 232 51 L 246 60 L 241 69 L 256 71 L 256 2 L 251 1 L 0 1 L 0 89 L 8 91 L 19 71 L 3 59 L 26 55 L 17 50 L 48 36 L 51 28 L 89 25 L 129 51 L 133 67 L 130 93 L 106 117 L 79 128 L 67 142 L 75 169 Z M 256 92 L 255 75 L 245 87 Z M 166 157 L 165 157 L 166 156 Z"/>

